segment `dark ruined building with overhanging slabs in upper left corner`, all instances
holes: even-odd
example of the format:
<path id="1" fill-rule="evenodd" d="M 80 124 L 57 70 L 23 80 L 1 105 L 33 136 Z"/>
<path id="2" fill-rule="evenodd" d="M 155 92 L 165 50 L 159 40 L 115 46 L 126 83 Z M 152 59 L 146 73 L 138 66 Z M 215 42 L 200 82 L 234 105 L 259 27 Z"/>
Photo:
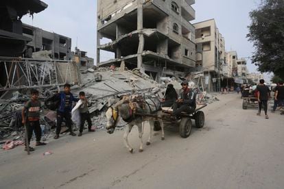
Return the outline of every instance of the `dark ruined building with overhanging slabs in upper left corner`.
<path id="1" fill-rule="evenodd" d="M 21 56 L 32 38 L 23 35 L 21 18 L 41 12 L 47 4 L 39 0 L 0 1 L 0 56 Z"/>

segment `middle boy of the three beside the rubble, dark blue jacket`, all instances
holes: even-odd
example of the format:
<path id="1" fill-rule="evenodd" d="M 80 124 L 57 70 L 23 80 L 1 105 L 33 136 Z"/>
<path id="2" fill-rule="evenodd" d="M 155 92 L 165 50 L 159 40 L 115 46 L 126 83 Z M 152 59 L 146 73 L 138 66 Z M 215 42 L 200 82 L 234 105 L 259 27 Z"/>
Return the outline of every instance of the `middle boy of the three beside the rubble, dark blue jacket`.
<path id="1" fill-rule="evenodd" d="M 54 136 L 54 139 L 59 138 L 63 118 L 65 118 L 65 123 L 69 128 L 70 135 L 76 136 L 76 134 L 72 131 L 71 110 L 73 101 L 77 102 L 79 99 L 73 97 L 70 84 L 64 84 L 64 91 L 58 93 L 55 99 L 60 100 L 60 105 L 57 110 L 56 136 Z"/>

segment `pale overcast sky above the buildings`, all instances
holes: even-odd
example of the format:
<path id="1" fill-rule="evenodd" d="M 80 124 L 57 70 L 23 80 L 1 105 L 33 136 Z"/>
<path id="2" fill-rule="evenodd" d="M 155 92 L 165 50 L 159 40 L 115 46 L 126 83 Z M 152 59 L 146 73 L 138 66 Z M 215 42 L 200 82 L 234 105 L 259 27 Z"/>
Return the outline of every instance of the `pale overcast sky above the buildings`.
<path id="1" fill-rule="evenodd" d="M 23 23 L 40 27 L 72 38 L 72 50 L 87 51 L 88 56 L 96 57 L 96 14 L 97 0 L 42 0 L 48 4 L 43 12 L 34 18 L 23 16 Z M 257 66 L 250 63 L 254 51 L 248 42 L 249 12 L 256 9 L 261 0 L 196 0 L 196 20 L 191 23 L 215 18 L 220 33 L 226 42 L 226 51 L 237 51 L 238 58 L 247 58 L 248 70 L 256 72 Z M 105 56 L 105 57 L 104 57 Z M 102 58 L 107 58 L 102 55 Z M 96 59 L 95 59 L 96 60 Z"/>

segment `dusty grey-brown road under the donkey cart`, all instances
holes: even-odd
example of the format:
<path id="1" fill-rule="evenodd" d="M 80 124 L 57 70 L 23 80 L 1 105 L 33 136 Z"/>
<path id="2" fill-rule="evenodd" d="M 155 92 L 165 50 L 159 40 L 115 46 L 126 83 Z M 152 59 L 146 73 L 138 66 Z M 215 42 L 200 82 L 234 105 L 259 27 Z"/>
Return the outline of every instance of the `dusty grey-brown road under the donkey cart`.
<path id="1" fill-rule="evenodd" d="M 64 136 L 29 156 L 1 150 L 0 188 L 284 188 L 284 116 L 266 120 L 242 110 L 235 94 L 219 97 L 204 109 L 203 129 L 184 139 L 168 128 L 143 153 L 136 130 L 133 154 L 123 131 Z"/>

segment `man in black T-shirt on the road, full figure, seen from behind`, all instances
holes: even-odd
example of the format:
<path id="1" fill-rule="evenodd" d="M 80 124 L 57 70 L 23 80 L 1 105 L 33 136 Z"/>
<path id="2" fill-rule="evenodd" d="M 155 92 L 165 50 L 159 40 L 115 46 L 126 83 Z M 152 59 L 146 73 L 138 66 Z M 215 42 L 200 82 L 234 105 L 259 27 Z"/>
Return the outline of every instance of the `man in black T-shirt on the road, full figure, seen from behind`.
<path id="1" fill-rule="evenodd" d="M 259 86 L 257 86 L 257 99 L 259 101 L 259 112 L 258 116 L 261 115 L 261 106 L 263 105 L 263 110 L 265 113 L 265 118 L 268 118 L 268 99 L 270 90 L 268 86 L 265 86 L 264 79 L 259 80 Z"/>

